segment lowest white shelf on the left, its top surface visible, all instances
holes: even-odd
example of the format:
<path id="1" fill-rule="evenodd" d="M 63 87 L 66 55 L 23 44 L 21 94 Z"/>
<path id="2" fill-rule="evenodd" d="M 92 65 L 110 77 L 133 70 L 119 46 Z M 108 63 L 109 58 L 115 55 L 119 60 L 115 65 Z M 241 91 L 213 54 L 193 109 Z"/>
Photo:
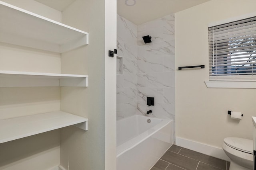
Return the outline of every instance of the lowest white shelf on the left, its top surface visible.
<path id="1" fill-rule="evenodd" d="M 2 119 L 0 120 L 0 143 L 52 131 L 70 125 L 76 125 L 78 123 L 87 124 L 87 121 L 87 118 L 66 113 L 64 111 Z"/>

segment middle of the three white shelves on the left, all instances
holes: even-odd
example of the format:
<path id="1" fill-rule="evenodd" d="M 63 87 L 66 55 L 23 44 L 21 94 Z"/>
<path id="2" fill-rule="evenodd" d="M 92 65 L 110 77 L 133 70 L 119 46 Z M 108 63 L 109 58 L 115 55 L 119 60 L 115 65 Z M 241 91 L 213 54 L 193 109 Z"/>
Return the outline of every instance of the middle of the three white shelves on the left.
<path id="1" fill-rule="evenodd" d="M 0 70 L 0 87 L 88 87 L 88 75 Z"/>

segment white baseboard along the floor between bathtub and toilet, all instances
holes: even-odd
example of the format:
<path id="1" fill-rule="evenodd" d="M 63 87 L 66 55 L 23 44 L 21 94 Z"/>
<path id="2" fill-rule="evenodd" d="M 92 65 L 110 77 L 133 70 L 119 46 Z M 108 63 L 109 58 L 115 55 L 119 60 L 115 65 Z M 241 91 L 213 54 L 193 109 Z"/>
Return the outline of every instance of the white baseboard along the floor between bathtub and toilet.
<path id="1" fill-rule="evenodd" d="M 230 158 L 228 158 L 222 148 L 213 147 L 210 145 L 190 141 L 188 139 L 183 139 L 179 137 L 176 137 L 176 145 L 184 147 L 186 149 L 194 150 L 196 152 L 200 152 L 202 154 L 213 156 L 215 158 L 230 161 Z"/>

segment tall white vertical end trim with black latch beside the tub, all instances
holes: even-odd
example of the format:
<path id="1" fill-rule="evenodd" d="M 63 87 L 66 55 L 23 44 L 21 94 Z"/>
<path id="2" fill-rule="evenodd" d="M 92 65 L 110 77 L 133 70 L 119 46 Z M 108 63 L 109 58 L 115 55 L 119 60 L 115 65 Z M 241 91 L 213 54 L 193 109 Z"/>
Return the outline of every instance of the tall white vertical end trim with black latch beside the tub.
<path id="1" fill-rule="evenodd" d="M 105 1 L 105 170 L 116 170 L 116 26 L 116 0 Z"/>

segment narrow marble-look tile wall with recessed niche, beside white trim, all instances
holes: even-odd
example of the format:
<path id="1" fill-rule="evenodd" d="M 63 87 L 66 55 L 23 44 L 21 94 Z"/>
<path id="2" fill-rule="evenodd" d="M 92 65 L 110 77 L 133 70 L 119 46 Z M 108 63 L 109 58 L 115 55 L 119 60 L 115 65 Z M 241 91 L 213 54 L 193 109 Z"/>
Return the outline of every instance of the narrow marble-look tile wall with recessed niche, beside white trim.
<path id="1" fill-rule="evenodd" d="M 137 112 L 137 25 L 117 15 L 117 55 L 123 57 L 123 75 L 117 75 L 117 119 Z"/>

